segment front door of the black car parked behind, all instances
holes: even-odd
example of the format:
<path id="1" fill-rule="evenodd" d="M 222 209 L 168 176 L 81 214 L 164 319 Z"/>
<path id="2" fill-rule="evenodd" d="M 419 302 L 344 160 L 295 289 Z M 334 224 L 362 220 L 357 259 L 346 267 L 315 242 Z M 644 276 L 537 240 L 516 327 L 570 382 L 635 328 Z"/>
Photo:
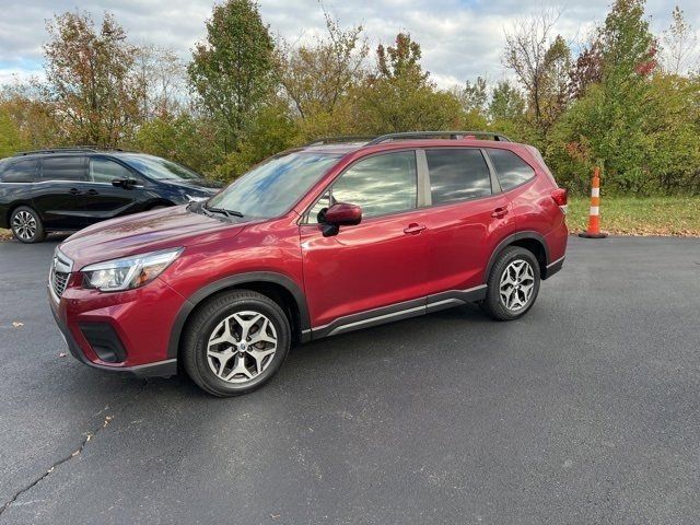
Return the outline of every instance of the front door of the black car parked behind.
<path id="1" fill-rule="evenodd" d="M 139 184 L 128 189 L 112 184 L 124 178 L 137 179 Z M 88 159 L 88 183 L 83 194 L 85 225 L 141 211 L 143 200 L 143 180 L 139 174 L 107 156 Z"/>

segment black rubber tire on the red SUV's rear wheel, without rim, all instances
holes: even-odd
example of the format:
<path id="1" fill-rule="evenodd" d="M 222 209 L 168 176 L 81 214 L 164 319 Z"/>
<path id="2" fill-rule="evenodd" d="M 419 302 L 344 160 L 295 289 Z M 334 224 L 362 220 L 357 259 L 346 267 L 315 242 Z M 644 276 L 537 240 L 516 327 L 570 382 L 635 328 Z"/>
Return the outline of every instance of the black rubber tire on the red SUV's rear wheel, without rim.
<path id="1" fill-rule="evenodd" d="M 504 272 L 506 269 L 511 268 L 510 271 L 513 271 L 511 265 L 513 262 L 524 261 L 529 265 L 533 275 L 533 283 L 532 283 L 532 293 L 527 301 L 524 302 L 524 305 L 520 305 L 522 298 L 525 296 L 525 292 L 521 291 L 521 288 L 514 290 L 511 293 L 516 293 L 518 302 L 516 308 L 509 308 L 504 299 L 501 296 L 501 279 L 504 277 Z M 529 282 L 529 279 L 524 282 Z M 537 300 L 537 294 L 539 293 L 539 283 L 540 283 L 540 269 L 539 262 L 537 261 L 537 257 L 525 248 L 521 248 L 520 246 L 509 246 L 498 256 L 498 259 L 493 264 L 491 268 L 491 273 L 489 273 L 488 292 L 487 296 L 483 301 L 481 301 L 480 306 L 487 314 L 498 320 L 514 320 L 523 315 L 525 315 L 529 308 L 533 307 L 535 301 Z M 522 284 L 520 281 L 516 284 L 518 287 L 526 287 L 527 284 Z M 510 288 L 509 288 L 510 290 Z"/>

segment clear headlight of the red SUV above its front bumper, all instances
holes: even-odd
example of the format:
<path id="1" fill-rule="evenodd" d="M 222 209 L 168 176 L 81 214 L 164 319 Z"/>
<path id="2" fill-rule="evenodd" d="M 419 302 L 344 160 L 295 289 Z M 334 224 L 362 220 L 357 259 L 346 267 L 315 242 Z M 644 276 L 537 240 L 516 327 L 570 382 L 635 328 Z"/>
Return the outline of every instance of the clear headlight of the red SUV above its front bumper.
<path id="1" fill-rule="evenodd" d="M 81 270 L 83 288 L 118 292 L 142 287 L 160 276 L 182 252 L 183 248 L 164 249 L 86 266 Z"/>

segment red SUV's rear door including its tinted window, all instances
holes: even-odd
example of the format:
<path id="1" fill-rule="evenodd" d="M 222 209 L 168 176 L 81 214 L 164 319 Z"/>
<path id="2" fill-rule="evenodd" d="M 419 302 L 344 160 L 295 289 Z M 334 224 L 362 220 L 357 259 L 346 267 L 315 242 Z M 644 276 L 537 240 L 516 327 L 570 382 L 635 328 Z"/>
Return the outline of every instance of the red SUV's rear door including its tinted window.
<path id="1" fill-rule="evenodd" d="M 479 299 L 495 246 L 515 232 L 515 218 L 478 148 L 424 150 L 430 208 L 429 305 L 455 298 Z"/>

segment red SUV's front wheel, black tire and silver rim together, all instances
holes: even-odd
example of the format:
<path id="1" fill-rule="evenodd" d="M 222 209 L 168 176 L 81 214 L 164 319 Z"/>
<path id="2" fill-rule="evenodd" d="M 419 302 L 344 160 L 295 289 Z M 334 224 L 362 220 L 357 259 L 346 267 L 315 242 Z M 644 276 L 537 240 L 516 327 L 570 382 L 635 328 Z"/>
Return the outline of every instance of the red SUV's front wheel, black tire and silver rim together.
<path id="1" fill-rule="evenodd" d="M 275 301 L 236 290 L 195 314 L 185 332 L 183 363 L 202 389 L 236 396 L 267 383 L 284 362 L 290 342 L 289 320 Z"/>

